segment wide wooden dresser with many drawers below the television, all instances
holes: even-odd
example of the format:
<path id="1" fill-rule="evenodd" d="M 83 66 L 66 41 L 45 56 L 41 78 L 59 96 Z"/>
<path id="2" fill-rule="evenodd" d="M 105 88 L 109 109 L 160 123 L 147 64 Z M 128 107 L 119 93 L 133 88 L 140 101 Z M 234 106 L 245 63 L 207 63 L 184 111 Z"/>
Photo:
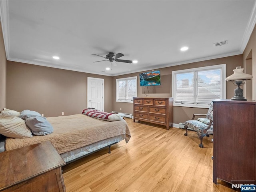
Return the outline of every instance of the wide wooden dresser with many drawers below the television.
<path id="1" fill-rule="evenodd" d="M 173 124 L 173 98 L 134 97 L 133 122 L 135 120 L 166 126 Z"/>

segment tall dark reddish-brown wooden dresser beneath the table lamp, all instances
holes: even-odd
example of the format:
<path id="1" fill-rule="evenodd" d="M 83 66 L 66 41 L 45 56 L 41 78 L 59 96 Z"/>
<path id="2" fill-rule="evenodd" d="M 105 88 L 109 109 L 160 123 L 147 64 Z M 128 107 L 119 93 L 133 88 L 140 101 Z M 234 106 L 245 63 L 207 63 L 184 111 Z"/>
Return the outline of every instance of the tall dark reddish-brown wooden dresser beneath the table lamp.
<path id="1" fill-rule="evenodd" d="M 256 184 L 256 102 L 214 100 L 213 182 Z"/>

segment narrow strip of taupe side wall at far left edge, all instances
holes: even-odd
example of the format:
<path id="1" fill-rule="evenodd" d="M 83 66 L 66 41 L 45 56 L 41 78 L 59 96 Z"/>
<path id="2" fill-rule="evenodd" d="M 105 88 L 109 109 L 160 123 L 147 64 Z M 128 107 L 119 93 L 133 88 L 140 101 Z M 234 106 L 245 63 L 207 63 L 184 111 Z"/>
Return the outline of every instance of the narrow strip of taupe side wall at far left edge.
<path id="1" fill-rule="evenodd" d="M 6 107 L 6 53 L 0 25 L 0 109 Z"/>

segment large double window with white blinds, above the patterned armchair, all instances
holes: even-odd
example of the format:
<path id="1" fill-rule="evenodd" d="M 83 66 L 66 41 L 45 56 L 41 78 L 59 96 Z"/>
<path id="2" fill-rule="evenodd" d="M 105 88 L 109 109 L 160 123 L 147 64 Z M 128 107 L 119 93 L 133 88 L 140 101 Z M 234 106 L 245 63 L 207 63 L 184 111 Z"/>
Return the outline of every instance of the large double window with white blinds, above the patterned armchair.
<path id="1" fill-rule="evenodd" d="M 207 108 L 226 98 L 226 64 L 172 72 L 174 106 Z"/>

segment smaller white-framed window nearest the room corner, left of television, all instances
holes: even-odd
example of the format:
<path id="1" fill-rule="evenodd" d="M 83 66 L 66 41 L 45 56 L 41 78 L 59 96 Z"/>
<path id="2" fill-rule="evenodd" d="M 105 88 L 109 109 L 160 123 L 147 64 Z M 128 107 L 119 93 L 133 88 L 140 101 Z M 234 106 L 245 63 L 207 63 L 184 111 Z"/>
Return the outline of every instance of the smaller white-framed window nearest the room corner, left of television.
<path id="1" fill-rule="evenodd" d="M 137 77 L 116 79 L 116 102 L 133 102 L 137 96 Z"/>

